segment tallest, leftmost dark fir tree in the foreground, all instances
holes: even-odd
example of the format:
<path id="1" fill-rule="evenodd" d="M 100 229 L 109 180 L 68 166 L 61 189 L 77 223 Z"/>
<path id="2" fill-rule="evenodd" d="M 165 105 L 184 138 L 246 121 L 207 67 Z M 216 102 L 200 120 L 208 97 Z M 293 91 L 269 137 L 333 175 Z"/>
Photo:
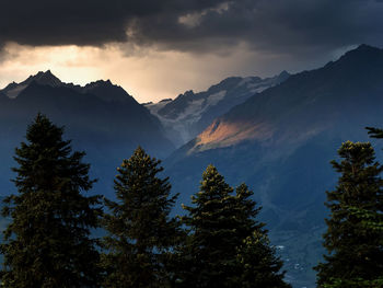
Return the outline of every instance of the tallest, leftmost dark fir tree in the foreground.
<path id="1" fill-rule="evenodd" d="M 15 150 L 19 191 L 2 209 L 11 222 L 0 245 L 4 287 L 98 287 L 98 252 L 90 229 L 102 210 L 85 197 L 94 181 L 84 152 L 72 152 L 63 128 L 38 114 Z"/>

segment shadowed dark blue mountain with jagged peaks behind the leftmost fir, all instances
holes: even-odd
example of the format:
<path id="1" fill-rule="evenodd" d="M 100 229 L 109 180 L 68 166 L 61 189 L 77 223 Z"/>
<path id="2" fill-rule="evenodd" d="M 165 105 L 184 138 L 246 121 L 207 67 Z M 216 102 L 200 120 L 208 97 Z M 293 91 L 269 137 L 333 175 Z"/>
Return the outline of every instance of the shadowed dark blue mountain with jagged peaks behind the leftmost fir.
<path id="1" fill-rule="evenodd" d="M 86 151 L 92 175 L 100 178 L 94 193 L 113 194 L 116 168 L 137 146 L 162 158 L 174 150 L 161 123 L 123 88 L 111 81 L 79 87 L 62 83 L 50 71 L 38 72 L 0 90 L 0 195 L 14 191 L 9 181 L 13 151 L 38 112 L 66 125 L 65 137 Z"/>

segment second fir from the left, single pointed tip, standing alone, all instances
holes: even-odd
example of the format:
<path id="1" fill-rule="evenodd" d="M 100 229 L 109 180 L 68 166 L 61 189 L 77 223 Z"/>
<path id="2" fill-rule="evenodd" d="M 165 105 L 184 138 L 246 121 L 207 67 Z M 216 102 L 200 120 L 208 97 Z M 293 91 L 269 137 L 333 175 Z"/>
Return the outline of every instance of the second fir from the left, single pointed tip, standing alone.
<path id="1" fill-rule="evenodd" d="M 159 177 L 160 163 L 139 147 L 118 168 L 117 201 L 106 200 L 111 214 L 104 216 L 105 287 L 171 285 L 167 267 L 179 228 L 170 212 L 177 195 L 171 195 L 169 177 Z"/>

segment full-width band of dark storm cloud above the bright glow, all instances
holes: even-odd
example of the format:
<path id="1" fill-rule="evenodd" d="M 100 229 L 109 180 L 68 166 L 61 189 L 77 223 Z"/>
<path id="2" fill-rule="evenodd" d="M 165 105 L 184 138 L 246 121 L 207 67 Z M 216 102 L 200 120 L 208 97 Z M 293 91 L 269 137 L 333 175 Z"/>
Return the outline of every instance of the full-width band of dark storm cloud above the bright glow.
<path id="1" fill-rule="evenodd" d="M 246 43 L 301 53 L 382 45 L 382 0 L 5 0 L 0 46 L 120 42 L 213 51 Z"/>

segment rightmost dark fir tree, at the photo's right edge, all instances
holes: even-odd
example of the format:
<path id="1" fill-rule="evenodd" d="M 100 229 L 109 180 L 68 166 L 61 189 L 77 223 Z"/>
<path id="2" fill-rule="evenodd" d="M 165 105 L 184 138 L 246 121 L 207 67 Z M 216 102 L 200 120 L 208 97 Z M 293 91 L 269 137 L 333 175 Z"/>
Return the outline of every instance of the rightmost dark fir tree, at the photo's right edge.
<path id="1" fill-rule="evenodd" d="M 343 143 L 335 191 L 327 192 L 328 254 L 320 263 L 317 284 L 324 288 L 383 287 L 383 168 L 369 142 Z"/>

